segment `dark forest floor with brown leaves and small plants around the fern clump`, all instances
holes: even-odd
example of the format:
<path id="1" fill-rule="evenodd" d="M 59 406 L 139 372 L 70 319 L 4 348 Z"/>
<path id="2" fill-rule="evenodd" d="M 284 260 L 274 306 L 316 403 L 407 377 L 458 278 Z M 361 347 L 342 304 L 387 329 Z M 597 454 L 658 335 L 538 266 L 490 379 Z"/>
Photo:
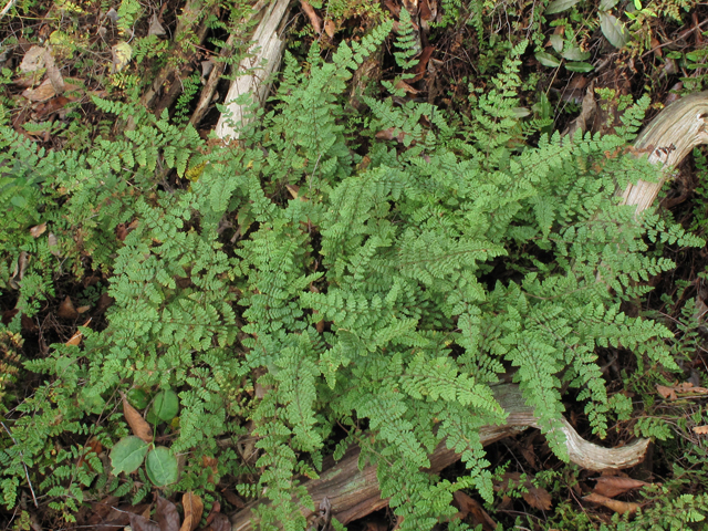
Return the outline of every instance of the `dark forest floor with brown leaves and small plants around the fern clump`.
<path id="1" fill-rule="evenodd" d="M 223 101 L 229 74 L 248 51 L 257 22 L 250 19 L 250 9 L 244 0 L 10 0 L 0 15 L 2 119 L 42 149 L 80 149 L 121 133 L 95 105 L 92 97 L 97 96 L 142 105 L 156 115 L 167 113 L 174 123 L 189 123 L 208 138 L 220 115 L 216 104 Z M 708 86 L 708 4 L 683 0 L 301 0 L 291 2 L 287 13 L 285 50 L 304 61 L 316 41 L 321 53 L 331 56 L 340 43 L 361 41 L 383 20 L 397 21 L 403 9 L 414 20 L 419 52 L 409 72 L 414 75 L 399 86 L 405 92 L 402 101 L 426 101 L 458 115 L 469 112 L 472 90 L 483 91 L 508 50 L 523 40 L 532 45 L 522 56 L 519 112 L 529 119 L 545 121 L 548 133 L 577 127 L 612 132 L 617 113 L 645 94 L 652 100 L 648 123 L 680 95 Z M 355 75 L 352 84 L 376 92 L 379 80 L 393 77 L 392 46 L 384 46 L 365 66 L 367 71 Z M 217 81 L 209 84 L 214 69 Z M 275 86 L 278 82 L 275 77 Z M 205 93 L 208 86 L 211 92 Z M 355 96 L 352 104 L 361 105 Z M 386 134 L 392 135 L 381 132 Z M 537 140 L 538 136 L 530 139 Z M 660 199 L 667 216 L 702 237 L 708 232 L 707 157 L 700 149 L 688 157 Z M 179 186 L 174 175 L 166 179 Z M 119 226 L 116 238 L 125 239 L 131 230 Z M 658 319 L 676 332 L 673 348 L 685 377 L 652 374 L 655 367 L 637 366 L 622 351 L 607 348 L 598 355 L 608 387 L 625 389 L 636 400 L 654 397 L 644 404 L 645 415 L 665 421 L 666 440 L 656 439 L 641 465 L 601 476 L 560 461 L 537 429 L 504 438 L 487 447 L 487 459 L 496 471 L 496 503 L 483 504 L 473 494 L 459 492 L 455 503 L 460 519 L 485 531 L 497 524 L 600 529 L 611 525 L 615 514 L 652 507 L 667 496 L 667 489 L 674 498 L 706 492 L 708 428 L 700 419 L 708 404 L 704 387 L 708 384 L 708 253 L 705 248 L 670 244 L 662 252 L 677 268 L 650 279 L 654 290 L 625 311 Z M 85 290 L 103 280 L 87 274 L 76 285 Z M 64 294 L 75 291 L 70 285 L 61 290 Z M 50 296 L 35 319 L 22 321 L 22 355 L 45 355 L 51 344 L 71 342 L 77 326 L 90 319 L 100 322 L 111 302 L 108 296 L 88 302 Z M 15 303 L 12 292 L 0 294 L 4 324 L 17 316 Z M 667 377 L 674 379 L 666 382 Z M 662 378 L 666 385 L 657 384 Z M 29 395 L 35 385 L 23 381 L 12 393 Z M 10 415 L 0 409 L 0 419 Z M 569 402 L 566 417 L 583 437 L 594 440 L 581 406 Z M 626 440 L 632 429 L 632 423 L 611 429 L 601 444 Z M 462 465 L 454 465 L 441 476 L 455 478 L 461 469 Z M 236 512 L 244 502 L 223 481 L 194 525 L 186 521 L 192 500 L 174 494 L 166 502 L 169 506 L 157 507 L 160 525 L 146 523 L 143 529 L 229 529 L 221 516 Z M 127 512 L 148 514 L 153 507 L 149 499 L 135 506 L 129 498 L 104 499 L 82 508 L 75 523 L 60 523 L 49 498 L 35 507 L 28 491 L 15 509 L 3 511 L 0 506 L 0 522 L 4 529 L 34 531 L 121 529 L 127 524 Z M 181 503 L 184 524 L 173 502 Z M 395 527 L 395 517 L 384 508 L 348 529 Z"/>

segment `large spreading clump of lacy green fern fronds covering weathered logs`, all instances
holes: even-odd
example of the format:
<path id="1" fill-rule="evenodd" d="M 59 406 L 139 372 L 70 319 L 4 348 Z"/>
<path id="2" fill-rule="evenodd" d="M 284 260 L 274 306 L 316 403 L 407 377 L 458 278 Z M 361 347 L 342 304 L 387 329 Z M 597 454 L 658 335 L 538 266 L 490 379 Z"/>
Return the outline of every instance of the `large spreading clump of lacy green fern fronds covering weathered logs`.
<path id="1" fill-rule="evenodd" d="M 412 31 L 405 13 L 403 52 Z M 554 135 L 524 146 L 529 125 L 514 112 L 519 46 L 470 116 L 368 97 L 368 125 L 355 136 L 341 103 L 346 81 L 389 31 L 384 24 L 353 50 L 343 44 L 331 62 L 314 45 L 309 70 L 287 58 L 274 108 L 247 127 L 238 149 L 209 150 L 166 115 L 103 101 L 136 127 L 85 153 L 37 155 L 3 128 L 4 160 L 38 159 L 34 168 L 6 164 L 0 177 L 25 198 L 13 204 L 0 188 L 2 208 L 17 214 L 0 229 L 11 242 L 0 251 L 3 290 L 8 264 L 32 254 L 24 278 L 37 279 L 22 281 L 18 296 L 31 316 L 53 289 L 42 270 L 80 272 L 90 256 L 115 300 L 105 330 L 24 363 L 48 376 L 7 419 L 18 445 L 0 442 L 6 504 L 15 503 L 23 465 L 67 513 L 95 493 L 135 493 L 134 478 L 112 477 L 97 458 L 80 466 L 75 456 L 90 437 L 111 447 L 127 434 L 113 413 L 116 391 L 174 389 L 179 427 L 160 429 L 186 465 L 171 489 L 214 491 L 201 459 L 216 456 L 219 476 L 259 473 L 257 486 L 238 488 L 272 500 L 259 511 L 262 529 L 304 529 L 298 503 L 308 499 L 296 478 L 316 476 L 339 425 L 347 435 L 335 456 L 358 442 L 363 458 L 381 465 L 402 529 L 430 529 L 452 511 L 455 490 L 491 498 L 477 429 L 504 417 L 490 386 L 507 368 L 563 457 L 554 428 L 564 386 L 580 389 L 601 436 L 607 415 L 626 406 L 608 399 L 596 348 L 675 366 L 663 344 L 669 332 L 620 310 L 645 292 L 635 281 L 673 267 L 646 254 L 647 235 L 702 243 L 657 217 L 636 223 L 614 197 L 627 181 L 655 176 L 644 160 L 608 155 L 648 102 L 625 114 L 624 137 Z M 392 127 L 403 142 L 376 138 Z M 362 139 L 365 157 L 354 150 Z M 165 168 L 196 177 L 167 190 Z M 283 199 L 287 186 L 298 187 L 296 198 Z M 235 219 L 241 238 L 229 246 L 219 235 Z M 59 239 L 61 266 L 46 239 L 25 236 L 39 220 Z M 124 241 L 113 237 L 132 220 Z M 18 317 L 10 329 L 19 327 Z M 243 400 L 257 383 L 267 392 Z M 217 445 L 248 435 L 248 420 L 254 462 Z M 467 478 L 421 471 L 442 439 L 462 454 Z"/>

